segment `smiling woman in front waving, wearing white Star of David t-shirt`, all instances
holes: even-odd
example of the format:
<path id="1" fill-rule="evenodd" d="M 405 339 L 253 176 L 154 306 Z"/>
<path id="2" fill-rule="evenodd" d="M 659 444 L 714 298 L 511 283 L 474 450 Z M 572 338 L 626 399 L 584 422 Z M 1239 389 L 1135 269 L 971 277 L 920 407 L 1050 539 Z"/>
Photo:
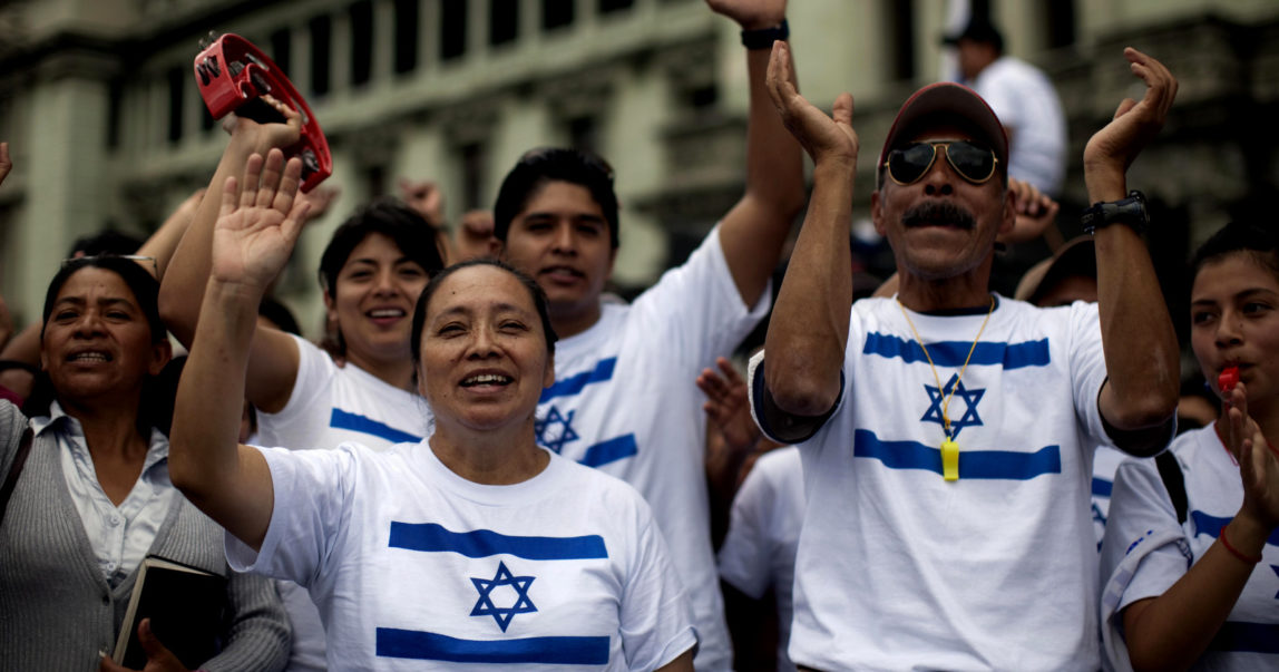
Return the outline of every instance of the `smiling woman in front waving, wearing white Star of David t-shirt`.
<path id="1" fill-rule="evenodd" d="M 691 607 L 648 506 L 535 443 L 555 334 L 537 285 L 500 262 L 448 269 L 417 300 L 428 439 L 237 444 L 255 306 L 301 228 L 295 182 L 261 189 L 263 205 L 237 205 L 234 180 L 223 195 L 202 307 L 220 319 L 200 321 L 175 407 L 174 479 L 234 535 L 233 566 L 310 588 L 334 669 L 692 669 Z"/>

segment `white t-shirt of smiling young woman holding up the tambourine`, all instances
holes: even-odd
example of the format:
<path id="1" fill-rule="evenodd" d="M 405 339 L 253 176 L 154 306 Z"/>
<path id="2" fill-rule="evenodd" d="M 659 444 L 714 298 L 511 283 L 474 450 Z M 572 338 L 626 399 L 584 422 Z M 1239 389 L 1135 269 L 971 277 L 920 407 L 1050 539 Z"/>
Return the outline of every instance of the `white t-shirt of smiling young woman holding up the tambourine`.
<path id="1" fill-rule="evenodd" d="M 400 442 L 431 434 L 432 416 L 426 399 L 396 388 L 363 369 L 338 366 L 327 352 L 293 337 L 298 344 L 298 378 L 279 413 L 258 412 L 255 443 L 292 449 L 333 449 L 356 442 L 385 451 Z M 290 672 L 325 669 L 325 632 L 307 591 L 280 582 L 280 599 L 293 623 Z"/>

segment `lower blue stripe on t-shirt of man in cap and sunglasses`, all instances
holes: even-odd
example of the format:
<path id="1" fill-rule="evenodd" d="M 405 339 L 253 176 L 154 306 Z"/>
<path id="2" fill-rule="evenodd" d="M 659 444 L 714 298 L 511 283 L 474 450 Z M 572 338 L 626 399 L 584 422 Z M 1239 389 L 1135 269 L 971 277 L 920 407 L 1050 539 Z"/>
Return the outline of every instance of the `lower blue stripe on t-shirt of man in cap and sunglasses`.
<path id="1" fill-rule="evenodd" d="M 875 433 L 865 429 L 853 433 L 853 456 L 879 460 L 889 468 L 922 468 L 941 474 L 940 448 L 911 440 L 880 440 Z M 1033 453 L 959 449 L 959 480 L 1031 480 L 1045 474 L 1060 472 L 1062 449 L 1058 445 L 1049 445 Z"/>

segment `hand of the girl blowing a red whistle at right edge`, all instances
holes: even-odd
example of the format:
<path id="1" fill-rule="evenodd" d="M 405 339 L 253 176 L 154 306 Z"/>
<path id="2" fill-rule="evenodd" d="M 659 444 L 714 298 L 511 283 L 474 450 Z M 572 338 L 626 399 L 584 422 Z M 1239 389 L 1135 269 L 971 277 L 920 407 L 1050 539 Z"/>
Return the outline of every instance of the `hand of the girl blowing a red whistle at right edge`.
<path id="1" fill-rule="evenodd" d="M 1239 456 L 1239 479 L 1243 481 L 1243 507 L 1239 513 L 1252 517 L 1266 530 L 1279 527 L 1279 451 L 1275 451 L 1261 426 L 1248 417 L 1247 387 L 1234 385 L 1227 397 L 1229 417 L 1225 440 Z"/>

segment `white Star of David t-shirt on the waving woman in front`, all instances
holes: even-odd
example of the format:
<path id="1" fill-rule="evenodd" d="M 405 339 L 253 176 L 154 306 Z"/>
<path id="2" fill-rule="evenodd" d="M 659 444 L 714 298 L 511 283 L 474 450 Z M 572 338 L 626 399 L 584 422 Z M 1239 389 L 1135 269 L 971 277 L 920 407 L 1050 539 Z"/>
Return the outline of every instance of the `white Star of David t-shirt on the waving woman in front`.
<path id="1" fill-rule="evenodd" d="M 551 456 L 480 485 L 426 442 L 262 454 L 270 527 L 256 554 L 228 534 L 226 557 L 311 590 L 334 669 L 655 669 L 696 644 L 648 507 L 615 479 Z"/>

